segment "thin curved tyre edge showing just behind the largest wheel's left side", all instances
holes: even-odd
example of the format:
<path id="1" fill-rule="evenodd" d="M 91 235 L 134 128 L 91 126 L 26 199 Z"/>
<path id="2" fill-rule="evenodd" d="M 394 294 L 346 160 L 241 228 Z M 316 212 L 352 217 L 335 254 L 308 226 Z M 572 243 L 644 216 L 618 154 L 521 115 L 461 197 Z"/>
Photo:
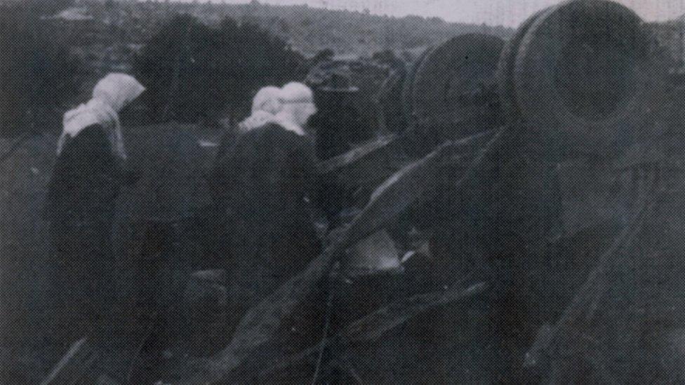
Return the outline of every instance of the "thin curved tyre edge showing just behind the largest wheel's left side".
<path id="1" fill-rule="evenodd" d="M 514 85 L 514 65 L 516 65 L 516 57 L 519 53 L 521 41 L 526 36 L 528 29 L 531 28 L 533 22 L 538 20 L 540 15 L 545 13 L 548 8 L 538 11 L 526 21 L 521 23 L 514 36 L 505 43 L 500 55 L 500 62 L 497 67 L 497 83 L 499 88 L 500 106 L 510 123 L 514 123 L 520 117 L 519 106 L 516 100 L 516 86 Z"/>

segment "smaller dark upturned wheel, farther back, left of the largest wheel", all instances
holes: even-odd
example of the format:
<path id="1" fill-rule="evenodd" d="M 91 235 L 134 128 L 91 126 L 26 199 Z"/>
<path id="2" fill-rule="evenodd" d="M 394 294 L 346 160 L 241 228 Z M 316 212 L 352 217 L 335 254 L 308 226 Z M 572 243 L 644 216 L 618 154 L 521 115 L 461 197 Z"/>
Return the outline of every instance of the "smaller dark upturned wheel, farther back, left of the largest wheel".
<path id="1" fill-rule="evenodd" d="M 464 34 L 432 50 L 414 77 L 413 112 L 417 119 L 450 115 L 485 104 L 494 85 L 504 41 L 486 34 Z M 496 100 L 496 96 L 494 97 Z"/>

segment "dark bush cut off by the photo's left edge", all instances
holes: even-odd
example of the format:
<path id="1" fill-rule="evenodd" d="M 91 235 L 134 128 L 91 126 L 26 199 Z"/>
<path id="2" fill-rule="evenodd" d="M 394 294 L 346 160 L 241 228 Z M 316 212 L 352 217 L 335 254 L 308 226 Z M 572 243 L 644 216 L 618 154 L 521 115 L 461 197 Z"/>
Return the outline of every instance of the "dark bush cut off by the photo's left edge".
<path id="1" fill-rule="evenodd" d="M 0 7 L 0 58 L 0 135 L 58 126 L 60 107 L 77 93 L 80 62 L 18 7 Z"/>

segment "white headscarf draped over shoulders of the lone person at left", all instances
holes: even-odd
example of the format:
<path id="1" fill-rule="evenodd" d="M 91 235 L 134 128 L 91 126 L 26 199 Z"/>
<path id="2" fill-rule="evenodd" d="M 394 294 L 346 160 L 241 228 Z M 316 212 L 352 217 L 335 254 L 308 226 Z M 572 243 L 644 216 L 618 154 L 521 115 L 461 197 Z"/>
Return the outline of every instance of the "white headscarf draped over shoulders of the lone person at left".
<path id="1" fill-rule="evenodd" d="M 64 115 L 62 135 L 57 142 L 57 154 L 62 152 L 69 138 L 76 137 L 88 126 L 99 124 L 105 129 L 114 154 L 126 159 L 119 112 L 143 91 L 145 87 L 130 75 L 109 74 L 102 78 L 93 88 L 93 98 L 89 102 Z"/>

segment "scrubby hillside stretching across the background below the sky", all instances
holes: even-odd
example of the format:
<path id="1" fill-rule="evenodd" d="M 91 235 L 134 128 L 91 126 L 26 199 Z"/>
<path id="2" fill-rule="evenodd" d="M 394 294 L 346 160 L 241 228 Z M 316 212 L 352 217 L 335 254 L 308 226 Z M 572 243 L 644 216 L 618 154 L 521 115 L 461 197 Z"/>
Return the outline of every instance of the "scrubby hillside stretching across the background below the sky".
<path id="1" fill-rule="evenodd" d="M 201 1 L 203 4 L 166 0 L 0 0 L 0 19 L 8 19 L 8 10 L 17 6 L 29 11 L 18 14 L 27 17 L 36 33 L 49 36 L 55 45 L 65 46 L 83 64 L 75 79 L 80 85 L 79 93 L 60 100 L 62 107 L 85 100 L 94 82 L 104 74 L 131 72 L 134 58 L 147 41 L 179 14 L 192 15 L 208 25 L 217 25 L 225 18 L 251 22 L 288 41 L 304 55 L 314 56 L 330 49 L 338 58 L 368 57 L 382 50 L 407 53 L 408 56 L 402 56 L 411 58 L 427 46 L 458 34 L 512 34 L 512 29 L 504 27 L 448 23 L 439 18 L 390 18 L 307 6 Z M 20 8 L 15 10 L 21 11 Z"/>

